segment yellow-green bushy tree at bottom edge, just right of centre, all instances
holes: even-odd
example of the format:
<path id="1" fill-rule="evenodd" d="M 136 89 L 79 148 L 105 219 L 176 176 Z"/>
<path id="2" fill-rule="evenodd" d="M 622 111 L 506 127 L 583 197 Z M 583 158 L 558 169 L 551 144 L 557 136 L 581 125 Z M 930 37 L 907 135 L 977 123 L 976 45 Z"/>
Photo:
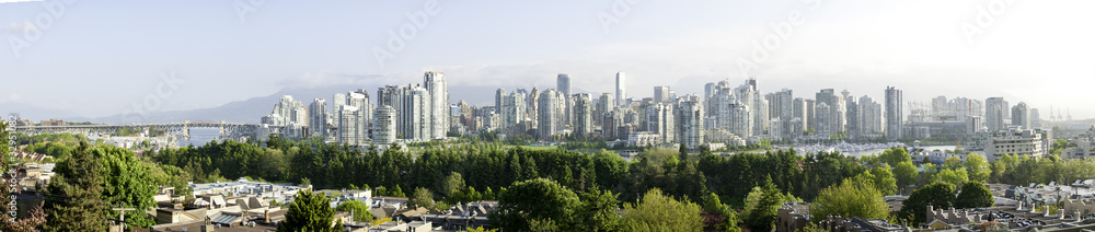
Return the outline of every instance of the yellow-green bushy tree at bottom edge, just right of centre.
<path id="1" fill-rule="evenodd" d="M 624 231 L 701 231 L 700 211 L 700 206 L 678 201 L 654 188 L 638 204 L 624 205 L 622 220 Z"/>

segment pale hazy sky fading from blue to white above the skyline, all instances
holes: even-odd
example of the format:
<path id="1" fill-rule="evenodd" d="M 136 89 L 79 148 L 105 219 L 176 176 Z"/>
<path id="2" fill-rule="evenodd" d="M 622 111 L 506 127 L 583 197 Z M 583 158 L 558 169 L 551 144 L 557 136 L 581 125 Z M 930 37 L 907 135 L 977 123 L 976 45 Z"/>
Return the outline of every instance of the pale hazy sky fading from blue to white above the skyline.
<path id="1" fill-rule="evenodd" d="M 0 2 L 0 103 L 85 117 L 376 90 L 427 70 L 450 88 L 546 89 L 567 73 L 591 93 L 622 71 L 635 98 L 750 77 L 808 98 L 846 89 L 880 101 L 896 86 L 910 102 L 1002 96 L 1095 117 L 1095 1 Z"/>

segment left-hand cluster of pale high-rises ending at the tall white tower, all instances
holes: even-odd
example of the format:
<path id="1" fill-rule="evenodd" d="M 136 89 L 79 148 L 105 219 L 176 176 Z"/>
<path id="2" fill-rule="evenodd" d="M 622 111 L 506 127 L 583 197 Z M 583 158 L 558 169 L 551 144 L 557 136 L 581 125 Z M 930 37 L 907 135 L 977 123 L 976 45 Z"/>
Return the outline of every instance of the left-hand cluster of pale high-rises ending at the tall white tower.
<path id="1" fill-rule="evenodd" d="M 365 89 L 335 93 L 331 100 L 328 105 L 315 98 L 304 107 L 286 95 L 262 121 L 284 128 L 276 132 L 291 138 L 385 148 L 397 141 L 445 139 L 452 119 L 445 72 L 439 71 L 426 72 L 423 83 L 379 88 L 374 101 Z"/>

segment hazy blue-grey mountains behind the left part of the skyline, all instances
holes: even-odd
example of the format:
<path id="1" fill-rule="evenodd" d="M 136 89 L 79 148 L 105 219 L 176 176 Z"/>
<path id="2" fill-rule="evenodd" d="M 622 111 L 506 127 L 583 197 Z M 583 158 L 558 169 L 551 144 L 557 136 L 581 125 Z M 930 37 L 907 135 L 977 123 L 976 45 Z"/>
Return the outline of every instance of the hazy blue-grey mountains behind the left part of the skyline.
<path id="1" fill-rule="evenodd" d="M 96 124 L 134 124 L 134 123 L 159 124 L 159 123 L 182 123 L 183 120 L 191 120 L 191 121 L 224 120 L 228 123 L 257 124 L 260 123 L 263 116 L 270 114 L 270 111 L 274 109 L 274 105 L 277 104 L 277 102 L 281 98 L 281 95 L 292 95 L 293 98 L 300 101 L 302 104 L 304 104 L 304 106 L 308 106 L 309 104 L 312 103 L 313 98 L 325 98 L 327 100 L 327 104 L 331 104 L 331 97 L 335 93 L 345 93 L 357 89 L 358 88 L 350 88 L 350 86 L 324 86 L 324 88 L 311 88 L 311 89 L 287 88 L 270 95 L 251 97 L 244 101 L 230 102 L 217 107 L 189 109 L 189 111 L 155 112 L 155 113 L 149 113 L 143 117 L 135 115 L 117 114 L 105 117 L 88 118 L 88 117 L 81 117 L 79 116 L 79 114 L 72 111 L 44 108 L 44 107 L 19 104 L 19 103 L 0 103 L 0 112 L 3 112 L 5 117 L 8 113 L 19 113 L 21 118 L 27 118 L 35 123 L 43 119 L 57 118 L 72 123 L 91 121 Z M 377 86 L 370 86 L 366 89 L 369 91 L 370 100 L 376 101 Z M 452 103 L 457 103 L 460 100 L 465 100 L 470 104 L 493 105 L 495 90 L 497 90 L 497 86 L 449 86 L 449 97 L 450 102 Z"/>

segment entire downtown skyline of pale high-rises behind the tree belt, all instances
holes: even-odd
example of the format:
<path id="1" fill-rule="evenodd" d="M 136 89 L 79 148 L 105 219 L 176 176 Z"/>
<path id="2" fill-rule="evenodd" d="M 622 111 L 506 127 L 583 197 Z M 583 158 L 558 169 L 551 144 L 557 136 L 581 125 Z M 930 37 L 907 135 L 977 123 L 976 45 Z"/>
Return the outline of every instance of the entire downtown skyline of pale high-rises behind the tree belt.
<path id="1" fill-rule="evenodd" d="M 938 96 L 920 104 L 906 101 L 895 86 L 887 86 L 881 98 L 834 89 L 800 97 L 788 89 L 762 93 L 757 80 L 748 79 L 738 85 L 707 83 L 702 95 L 678 96 L 669 86 L 654 86 L 652 97 L 637 98 L 627 95 L 626 74 L 618 72 L 614 92 L 572 91 L 570 76 L 561 73 L 554 89 L 497 89 L 494 105 L 475 106 L 463 100 L 450 105 L 445 73 L 430 71 L 423 83 L 379 88 L 374 100 L 364 89 L 336 93 L 330 103 L 316 98 L 308 107 L 283 96 L 263 124 L 279 126 L 291 137 L 320 136 L 327 142 L 358 146 L 491 134 L 499 139 L 593 139 L 635 147 L 683 143 L 690 149 L 764 140 L 937 138 L 968 141 L 966 147 L 983 150 L 991 135 L 1041 127 L 1038 111 L 1025 103 L 1011 106 L 1002 97 L 982 102 Z"/>

